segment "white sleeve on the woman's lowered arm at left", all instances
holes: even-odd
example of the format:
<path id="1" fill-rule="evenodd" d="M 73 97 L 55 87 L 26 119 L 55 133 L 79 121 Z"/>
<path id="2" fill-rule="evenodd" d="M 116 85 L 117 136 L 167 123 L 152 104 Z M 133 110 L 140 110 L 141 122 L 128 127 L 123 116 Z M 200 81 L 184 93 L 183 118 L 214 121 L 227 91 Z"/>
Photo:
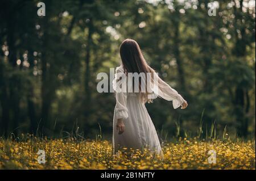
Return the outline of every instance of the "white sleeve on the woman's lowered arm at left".
<path id="1" fill-rule="evenodd" d="M 117 119 L 127 119 L 128 117 L 128 110 L 127 110 L 127 92 L 126 91 L 122 91 L 121 89 L 119 89 L 119 91 L 117 90 L 117 86 L 119 86 L 119 83 L 121 82 L 126 82 L 126 79 L 122 79 L 119 80 L 118 79 L 118 73 L 121 74 L 122 78 L 125 78 L 125 74 L 122 75 L 122 69 L 121 68 L 117 68 L 116 69 L 116 73 L 115 73 L 115 78 L 113 80 L 113 88 L 115 90 L 115 116 L 117 117 Z"/>

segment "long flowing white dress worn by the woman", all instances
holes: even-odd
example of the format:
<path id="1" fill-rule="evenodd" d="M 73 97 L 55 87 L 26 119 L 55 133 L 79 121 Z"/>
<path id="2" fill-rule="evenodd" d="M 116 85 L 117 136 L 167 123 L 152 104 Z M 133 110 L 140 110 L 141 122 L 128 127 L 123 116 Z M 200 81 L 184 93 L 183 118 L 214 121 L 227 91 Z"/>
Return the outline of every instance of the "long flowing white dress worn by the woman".
<path id="1" fill-rule="evenodd" d="M 123 66 L 118 66 L 115 70 L 115 79 L 113 88 L 116 86 L 117 73 L 123 73 Z M 159 77 L 158 77 L 159 78 Z M 166 100 L 172 100 L 174 108 L 178 108 L 183 104 L 184 99 L 172 89 L 166 82 L 159 78 L 161 86 L 158 95 Z M 115 88 L 114 88 L 115 89 Z M 144 102 L 142 102 L 139 93 L 135 92 L 115 92 L 115 109 L 113 118 L 113 153 L 123 147 L 143 150 L 150 149 L 158 154 L 162 153 L 158 134 L 150 115 L 148 115 Z M 125 131 L 118 134 L 116 129 L 117 119 L 122 119 L 125 124 Z"/>

